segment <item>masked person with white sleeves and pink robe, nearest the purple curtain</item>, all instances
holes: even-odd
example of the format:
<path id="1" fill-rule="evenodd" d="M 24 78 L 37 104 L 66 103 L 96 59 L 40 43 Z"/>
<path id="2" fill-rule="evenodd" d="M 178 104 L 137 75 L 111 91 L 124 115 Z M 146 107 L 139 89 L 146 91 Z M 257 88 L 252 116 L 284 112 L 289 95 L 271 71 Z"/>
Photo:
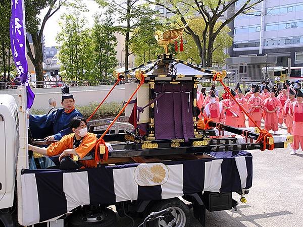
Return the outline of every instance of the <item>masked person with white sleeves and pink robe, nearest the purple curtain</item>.
<path id="1" fill-rule="evenodd" d="M 223 123 L 225 120 L 223 105 L 216 100 L 213 91 L 210 93 L 210 102 L 204 108 L 204 116 L 213 119 L 214 122 Z"/>

